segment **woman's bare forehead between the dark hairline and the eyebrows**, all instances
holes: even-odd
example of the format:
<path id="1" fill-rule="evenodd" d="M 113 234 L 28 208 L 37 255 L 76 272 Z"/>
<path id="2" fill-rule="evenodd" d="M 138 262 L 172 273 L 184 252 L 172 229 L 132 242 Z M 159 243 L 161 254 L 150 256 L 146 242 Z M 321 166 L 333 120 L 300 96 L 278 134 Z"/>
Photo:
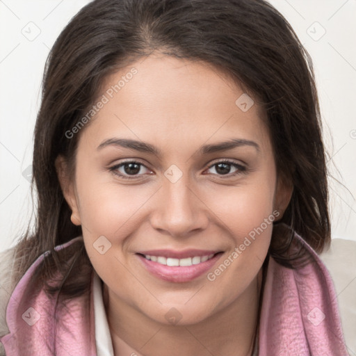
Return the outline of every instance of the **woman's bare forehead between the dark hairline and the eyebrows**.
<path id="1" fill-rule="evenodd" d="M 256 99 L 205 63 L 152 54 L 109 75 L 98 100 L 105 103 L 86 130 L 96 145 L 120 136 L 163 149 L 226 138 L 270 147 Z"/>

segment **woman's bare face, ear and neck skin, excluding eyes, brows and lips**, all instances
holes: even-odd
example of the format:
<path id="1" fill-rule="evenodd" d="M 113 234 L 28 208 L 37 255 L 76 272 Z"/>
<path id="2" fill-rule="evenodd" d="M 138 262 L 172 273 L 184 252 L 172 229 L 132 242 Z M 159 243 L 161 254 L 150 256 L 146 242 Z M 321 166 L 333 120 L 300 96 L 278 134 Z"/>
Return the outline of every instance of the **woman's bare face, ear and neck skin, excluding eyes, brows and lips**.
<path id="1" fill-rule="evenodd" d="M 82 225 L 88 256 L 104 282 L 115 355 L 250 355 L 272 224 L 213 282 L 207 273 L 191 282 L 163 281 L 136 252 L 220 250 L 215 270 L 273 211 L 282 217 L 291 189 L 277 179 L 264 112 L 257 100 L 241 111 L 235 102 L 242 88 L 218 70 L 159 53 L 108 76 L 102 94 L 132 67 L 138 71 L 133 79 L 82 129 L 74 178 L 63 157 L 56 161 L 72 222 Z M 161 155 L 118 145 L 98 149 L 110 138 L 144 141 Z M 258 149 L 198 152 L 232 138 Z M 143 163 L 133 176 L 116 169 L 133 179 L 110 170 L 126 159 Z M 222 159 L 243 168 L 227 165 L 224 175 L 213 165 Z M 172 164 L 182 173 L 175 183 L 164 175 Z M 93 246 L 99 236 L 111 243 L 105 254 Z M 165 318 L 171 308 L 179 312 L 177 324 Z"/>

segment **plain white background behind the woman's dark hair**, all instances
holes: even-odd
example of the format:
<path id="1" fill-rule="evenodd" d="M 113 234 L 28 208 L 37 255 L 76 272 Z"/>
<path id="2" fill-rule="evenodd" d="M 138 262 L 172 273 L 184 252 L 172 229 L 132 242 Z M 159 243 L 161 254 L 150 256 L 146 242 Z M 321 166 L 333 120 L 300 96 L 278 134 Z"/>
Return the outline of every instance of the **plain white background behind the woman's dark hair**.
<path id="1" fill-rule="evenodd" d="M 33 128 L 44 62 L 88 0 L 0 0 L 0 251 L 31 216 Z M 356 0 L 270 0 L 314 60 L 330 161 L 332 237 L 356 241 Z"/>

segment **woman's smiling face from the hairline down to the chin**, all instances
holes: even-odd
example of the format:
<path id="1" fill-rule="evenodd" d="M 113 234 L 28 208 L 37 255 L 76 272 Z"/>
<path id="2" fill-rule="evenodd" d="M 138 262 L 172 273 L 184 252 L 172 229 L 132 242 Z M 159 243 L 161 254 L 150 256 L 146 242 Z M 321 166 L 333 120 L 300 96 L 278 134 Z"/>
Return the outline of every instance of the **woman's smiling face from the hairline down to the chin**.
<path id="1" fill-rule="evenodd" d="M 158 54 L 108 77 L 65 197 L 111 300 L 190 324 L 243 298 L 288 203 L 252 99 Z"/>

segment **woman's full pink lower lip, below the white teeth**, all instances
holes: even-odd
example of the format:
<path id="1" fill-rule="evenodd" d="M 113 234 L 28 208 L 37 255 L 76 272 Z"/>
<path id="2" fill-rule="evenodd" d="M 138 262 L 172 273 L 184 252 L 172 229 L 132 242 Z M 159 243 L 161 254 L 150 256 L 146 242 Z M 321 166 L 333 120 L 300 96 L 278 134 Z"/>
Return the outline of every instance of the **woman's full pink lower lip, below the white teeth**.
<path id="1" fill-rule="evenodd" d="M 141 254 L 137 254 L 137 256 L 152 275 L 168 282 L 183 283 L 195 280 L 195 278 L 200 277 L 200 275 L 207 273 L 220 258 L 221 253 L 219 252 L 211 259 L 201 262 L 200 264 L 193 264 L 192 266 L 166 266 L 145 259 Z"/>

